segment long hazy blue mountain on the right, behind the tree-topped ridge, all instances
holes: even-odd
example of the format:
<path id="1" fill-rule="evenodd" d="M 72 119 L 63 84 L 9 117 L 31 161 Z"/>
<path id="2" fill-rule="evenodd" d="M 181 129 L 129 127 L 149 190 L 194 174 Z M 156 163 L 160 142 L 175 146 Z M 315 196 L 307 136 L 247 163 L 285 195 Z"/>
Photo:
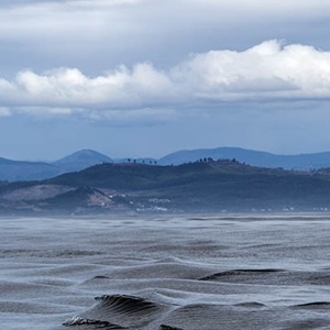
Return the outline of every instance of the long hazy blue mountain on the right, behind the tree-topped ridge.
<path id="1" fill-rule="evenodd" d="M 286 169 L 310 170 L 330 167 L 330 152 L 298 155 L 276 155 L 267 152 L 252 151 L 241 147 L 178 151 L 164 156 L 158 161 L 158 164 L 179 165 L 209 157 L 213 158 L 215 161 L 234 158 L 241 163 L 246 163 L 252 166 L 271 168 L 283 167 Z"/>

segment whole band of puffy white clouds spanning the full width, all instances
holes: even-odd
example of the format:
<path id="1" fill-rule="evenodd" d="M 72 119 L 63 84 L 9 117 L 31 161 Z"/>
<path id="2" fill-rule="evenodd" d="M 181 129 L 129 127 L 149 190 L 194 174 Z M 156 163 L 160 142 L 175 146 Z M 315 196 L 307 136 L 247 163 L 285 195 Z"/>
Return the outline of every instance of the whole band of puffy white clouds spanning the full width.
<path id="1" fill-rule="evenodd" d="M 209 103 L 329 98 L 330 52 L 276 40 L 242 52 L 193 54 L 167 70 L 138 63 L 99 76 L 62 67 L 0 78 L 0 116 L 77 114 L 111 120 L 136 111 L 141 117 L 170 118 L 187 108 L 205 111 Z"/>

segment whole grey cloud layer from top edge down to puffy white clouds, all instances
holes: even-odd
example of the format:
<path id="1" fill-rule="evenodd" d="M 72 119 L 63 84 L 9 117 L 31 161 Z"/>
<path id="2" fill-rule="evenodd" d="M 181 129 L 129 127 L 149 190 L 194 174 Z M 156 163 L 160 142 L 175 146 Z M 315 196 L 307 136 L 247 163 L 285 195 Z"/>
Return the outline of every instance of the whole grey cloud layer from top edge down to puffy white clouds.
<path id="1" fill-rule="evenodd" d="M 0 4 L 3 63 L 20 69 L 74 66 L 100 73 L 109 66 L 152 61 L 174 66 L 188 53 L 243 50 L 274 37 L 329 45 L 319 29 L 330 22 L 328 1 L 72 0 Z M 304 33 L 301 32 L 304 24 Z M 1 47 L 7 43 L 9 46 Z M 18 53 L 14 54 L 12 44 Z M 8 47 L 8 50 L 7 50 Z M 13 59 L 15 63 L 12 63 Z"/>

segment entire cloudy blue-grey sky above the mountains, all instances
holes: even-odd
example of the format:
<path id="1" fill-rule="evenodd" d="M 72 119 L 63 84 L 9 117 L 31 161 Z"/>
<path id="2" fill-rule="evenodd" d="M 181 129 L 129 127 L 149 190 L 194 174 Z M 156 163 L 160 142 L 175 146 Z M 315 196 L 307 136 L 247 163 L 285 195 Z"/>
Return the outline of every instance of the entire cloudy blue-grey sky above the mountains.
<path id="1" fill-rule="evenodd" d="M 330 151 L 330 2 L 2 0 L 0 156 Z"/>

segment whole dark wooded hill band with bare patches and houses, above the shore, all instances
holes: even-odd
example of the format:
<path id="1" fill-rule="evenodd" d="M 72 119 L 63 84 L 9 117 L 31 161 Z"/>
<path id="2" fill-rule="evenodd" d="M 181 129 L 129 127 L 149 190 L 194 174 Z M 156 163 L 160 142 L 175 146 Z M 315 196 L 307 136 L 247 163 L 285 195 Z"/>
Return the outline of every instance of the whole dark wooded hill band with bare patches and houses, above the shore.
<path id="1" fill-rule="evenodd" d="M 179 166 L 100 164 L 0 186 L 0 211 L 219 212 L 330 209 L 327 170 L 307 173 L 204 160 Z"/>

